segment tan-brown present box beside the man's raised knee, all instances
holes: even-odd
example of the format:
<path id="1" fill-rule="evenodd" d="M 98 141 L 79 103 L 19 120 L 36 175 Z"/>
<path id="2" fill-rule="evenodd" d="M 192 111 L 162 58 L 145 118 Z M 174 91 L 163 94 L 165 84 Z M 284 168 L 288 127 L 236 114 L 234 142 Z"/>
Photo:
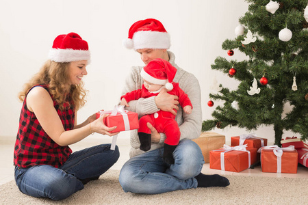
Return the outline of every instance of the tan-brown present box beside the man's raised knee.
<path id="1" fill-rule="evenodd" d="M 214 132 L 203 132 L 200 137 L 192 139 L 201 148 L 205 163 L 209 163 L 209 151 L 224 146 L 226 137 Z"/>

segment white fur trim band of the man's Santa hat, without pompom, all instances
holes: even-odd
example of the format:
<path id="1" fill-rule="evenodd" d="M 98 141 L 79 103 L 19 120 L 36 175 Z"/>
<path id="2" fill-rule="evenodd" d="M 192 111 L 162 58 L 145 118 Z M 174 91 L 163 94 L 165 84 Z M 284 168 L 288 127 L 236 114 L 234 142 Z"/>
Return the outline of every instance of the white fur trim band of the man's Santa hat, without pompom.
<path id="1" fill-rule="evenodd" d="M 170 35 L 158 31 L 138 31 L 133 34 L 133 49 L 169 49 Z"/>

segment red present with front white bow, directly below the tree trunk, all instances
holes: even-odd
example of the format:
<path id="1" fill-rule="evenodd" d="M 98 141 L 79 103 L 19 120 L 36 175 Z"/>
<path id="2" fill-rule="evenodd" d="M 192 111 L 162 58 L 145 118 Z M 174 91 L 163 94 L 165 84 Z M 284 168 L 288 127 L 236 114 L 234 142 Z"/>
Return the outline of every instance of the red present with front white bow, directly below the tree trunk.
<path id="1" fill-rule="evenodd" d="M 298 153 L 294 146 L 279 148 L 266 146 L 260 148 L 262 172 L 297 173 Z"/>

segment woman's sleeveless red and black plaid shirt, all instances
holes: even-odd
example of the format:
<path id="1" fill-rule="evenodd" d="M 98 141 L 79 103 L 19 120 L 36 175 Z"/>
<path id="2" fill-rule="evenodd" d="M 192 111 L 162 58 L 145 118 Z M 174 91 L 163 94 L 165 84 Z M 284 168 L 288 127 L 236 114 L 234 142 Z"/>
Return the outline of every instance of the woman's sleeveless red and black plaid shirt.
<path id="1" fill-rule="evenodd" d="M 44 87 L 49 92 L 48 85 L 38 86 Z M 69 101 L 70 105 L 73 105 L 73 100 L 69 99 Z M 75 110 L 64 105 L 64 110 L 60 111 L 55 100 L 53 100 L 53 106 L 62 121 L 64 130 L 72 130 L 75 122 Z M 36 115 L 27 109 L 25 98 L 19 118 L 19 128 L 14 149 L 14 165 L 18 167 L 32 167 L 35 165 L 60 167 L 71 153 L 72 150 L 68 146 L 58 145 L 45 133 Z"/>

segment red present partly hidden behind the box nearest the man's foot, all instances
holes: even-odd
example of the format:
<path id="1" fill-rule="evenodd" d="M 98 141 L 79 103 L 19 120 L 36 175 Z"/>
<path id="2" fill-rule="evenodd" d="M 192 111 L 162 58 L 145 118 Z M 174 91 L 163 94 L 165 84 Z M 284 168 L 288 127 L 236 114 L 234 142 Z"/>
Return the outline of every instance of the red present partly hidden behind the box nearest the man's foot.
<path id="1" fill-rule="evenodd" d="M 231 146 L 247 144 L 248 148 L 261 148 L 268 145 L 268 139 L 257 137 L 256 134 L 244 134 L 231 137 Z"/>

